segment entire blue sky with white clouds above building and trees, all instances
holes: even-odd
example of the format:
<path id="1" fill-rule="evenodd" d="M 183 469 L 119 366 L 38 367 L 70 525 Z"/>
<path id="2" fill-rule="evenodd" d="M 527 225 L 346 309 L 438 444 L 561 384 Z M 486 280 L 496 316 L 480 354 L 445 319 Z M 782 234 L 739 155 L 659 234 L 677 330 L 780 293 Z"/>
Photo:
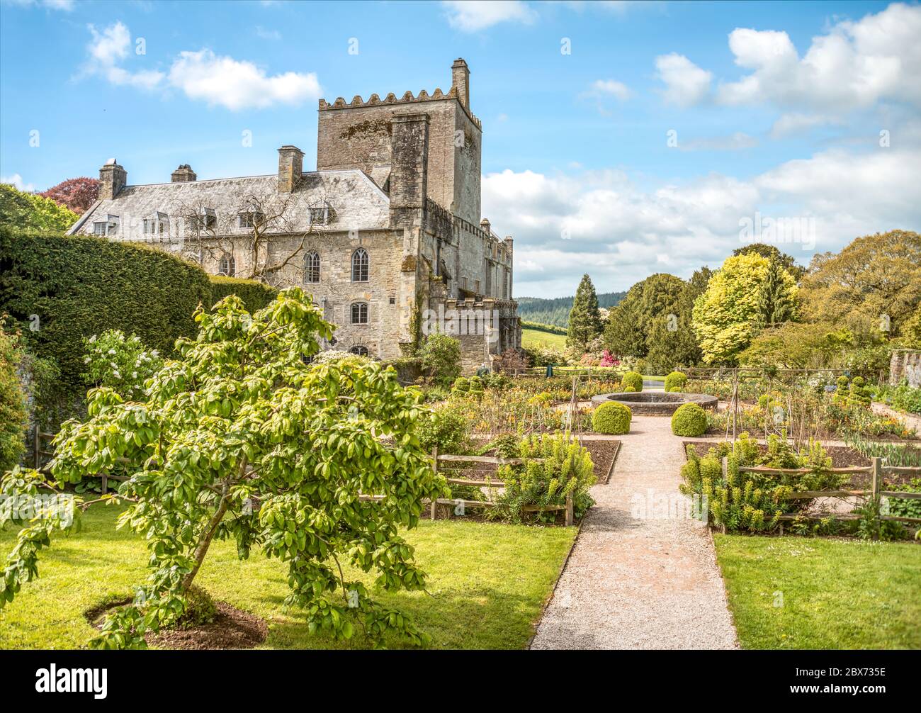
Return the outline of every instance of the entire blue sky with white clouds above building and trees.
<path id="1" fill-rule="evenodd" d="M 688 276 L 748 236 L 808 263 L 921 227 L 919 36 L 915 3 L 0 0 L 0 177 L 312 166 L 317 99 L 447 89 L 464 57 L 517 295 Z"/>

